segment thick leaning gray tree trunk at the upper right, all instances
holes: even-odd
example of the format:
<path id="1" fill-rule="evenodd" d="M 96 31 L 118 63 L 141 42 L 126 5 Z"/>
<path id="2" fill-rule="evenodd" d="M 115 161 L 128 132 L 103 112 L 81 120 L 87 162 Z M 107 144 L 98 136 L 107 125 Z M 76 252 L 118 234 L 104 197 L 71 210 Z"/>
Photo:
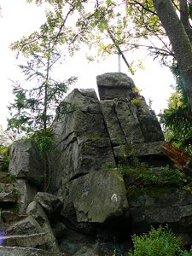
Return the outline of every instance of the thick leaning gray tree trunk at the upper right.
<path id="1" fill-rule="evenodd" d="M 192 47 L 187 33 L 179 20 L 171 0 L 153 0 L 154 8 L 166 30 L 177 58 L 183 84 L 188 96 L 189 114 L 192 113 Z"/>

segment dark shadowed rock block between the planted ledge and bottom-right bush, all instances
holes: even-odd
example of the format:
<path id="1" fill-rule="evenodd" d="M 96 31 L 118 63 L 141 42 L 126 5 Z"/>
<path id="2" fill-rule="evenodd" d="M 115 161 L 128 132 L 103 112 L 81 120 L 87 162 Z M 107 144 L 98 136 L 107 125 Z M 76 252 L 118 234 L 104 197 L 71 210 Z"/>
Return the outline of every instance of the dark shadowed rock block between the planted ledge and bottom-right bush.
<path id="1" fill-rule="evenodd" d="M 185 244 L 192 237 L 192 194 L 183 189 L 142 189 L 128 191 L 134 232 L 146 232 L 151 225 L 169 224 L 183 236 Z"/>

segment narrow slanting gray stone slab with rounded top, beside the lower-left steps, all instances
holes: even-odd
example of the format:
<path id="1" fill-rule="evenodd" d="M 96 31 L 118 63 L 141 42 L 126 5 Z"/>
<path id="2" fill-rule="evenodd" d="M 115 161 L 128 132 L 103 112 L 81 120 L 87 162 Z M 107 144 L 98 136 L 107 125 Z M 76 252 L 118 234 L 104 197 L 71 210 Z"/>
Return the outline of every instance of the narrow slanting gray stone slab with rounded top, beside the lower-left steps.
<path id="1" fill-rule="evenodd" d="M 41 232 L 46 234 L 44 238 L 44 241 L 46 241 L 46 250 L 50 252 L 60 252 L 53 230 L 50 227 L 49 219 L 38 202 L 32 201 L 27 207 L 26 213 L 38 222 L 41 227 Z"/>

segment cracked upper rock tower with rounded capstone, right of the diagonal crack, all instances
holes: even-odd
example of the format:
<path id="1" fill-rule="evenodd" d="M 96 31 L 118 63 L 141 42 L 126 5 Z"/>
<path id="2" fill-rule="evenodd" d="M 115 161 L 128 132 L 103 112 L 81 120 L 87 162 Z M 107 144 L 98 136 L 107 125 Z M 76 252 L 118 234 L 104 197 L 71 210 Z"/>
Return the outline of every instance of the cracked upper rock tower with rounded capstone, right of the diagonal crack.
<path id="1" fill-rule="evenodd" d="M 104 73 L 96 79 L 113 146 L 164 140 L 158 119 L 149 111 L 143 96 L 139 96 L 126 74 Z"/>

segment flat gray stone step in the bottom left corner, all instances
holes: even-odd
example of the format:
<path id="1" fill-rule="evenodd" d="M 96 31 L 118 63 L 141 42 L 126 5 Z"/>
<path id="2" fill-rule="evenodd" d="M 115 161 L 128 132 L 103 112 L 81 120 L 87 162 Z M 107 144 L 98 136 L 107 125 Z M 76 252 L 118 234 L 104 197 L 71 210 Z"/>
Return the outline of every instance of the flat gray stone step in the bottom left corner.
<path id="1" fill-rule="evenodd" d="M 47 252 L 40 249 L 24 247 L 1 247 L 0 255 L 2 256 L 64 256 L 64 253 Z"/>

